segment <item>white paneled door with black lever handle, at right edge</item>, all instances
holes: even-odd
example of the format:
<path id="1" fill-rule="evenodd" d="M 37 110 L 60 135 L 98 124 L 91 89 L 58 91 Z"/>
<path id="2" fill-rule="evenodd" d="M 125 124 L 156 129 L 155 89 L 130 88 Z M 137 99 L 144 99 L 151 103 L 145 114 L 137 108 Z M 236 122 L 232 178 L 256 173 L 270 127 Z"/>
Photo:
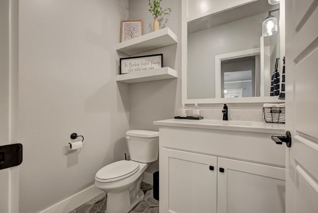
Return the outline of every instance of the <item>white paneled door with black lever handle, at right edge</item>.
<path id="1" fill-rule="evenodd" d="M 318 213 L 318 0 L 286 4 L 286 213 Z"/>

